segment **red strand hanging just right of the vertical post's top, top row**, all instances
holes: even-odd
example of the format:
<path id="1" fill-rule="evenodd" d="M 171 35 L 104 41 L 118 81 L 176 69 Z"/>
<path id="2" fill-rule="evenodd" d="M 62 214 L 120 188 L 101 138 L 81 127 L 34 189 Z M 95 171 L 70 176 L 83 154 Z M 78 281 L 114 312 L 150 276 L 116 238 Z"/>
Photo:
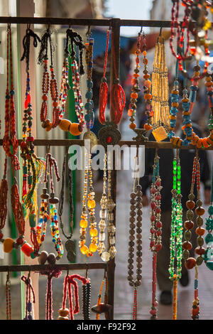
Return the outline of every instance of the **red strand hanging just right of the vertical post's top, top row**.
<path id="1" fill-rule="evenodd" d="M 113 111 L 111 121 L 115 124 L 119 124 L 121 121 L 121 117 L 123 115 L 126 97 L 123 88 L 119 85 L 119 78 L 116 70 L 116 58 L 114 52 L 114 33 L 111 33 L 111 52 L 113 55 L 113 64 L 114 64 L 114 83 L 111 86 L 110 92 L 110 101 L 111 101 L 111 109 Z"/>

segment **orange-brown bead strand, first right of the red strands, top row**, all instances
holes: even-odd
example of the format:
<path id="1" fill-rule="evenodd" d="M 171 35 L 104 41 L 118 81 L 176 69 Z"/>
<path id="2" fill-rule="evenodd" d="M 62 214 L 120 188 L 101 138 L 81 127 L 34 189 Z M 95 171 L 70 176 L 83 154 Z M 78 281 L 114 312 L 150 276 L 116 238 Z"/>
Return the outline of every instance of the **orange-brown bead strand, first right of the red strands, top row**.
<path id="1" fill-rule="evenodd" d="M 140 59 L 139 59 L 139 55 L 141 54 L 141 32 L 138 33 L 138 39 L 137 39 L 137 49 L 135 51 L 136 54 L 136 68 L 134 69 L 134 74 L 132 76 L 132 80 L 131 80 L 131 99 L 130 99 L 130 104 L 129 104 L 129 110 L 128 110 L 128 115 L 130 117 L 130 124 L 129 124 L 129 128 L 130 129 L 135 129 L 136 128 L 136 124 L 134 123 L 135 121 L 135 116 L 136 116 L 136 102 L 137 102 L 137 98 L 138 98 L 138 92 L 141 92 L 141 89 L 138 85 L 138 77 L 139 77 L 139 68 L 140 68 Z"/>

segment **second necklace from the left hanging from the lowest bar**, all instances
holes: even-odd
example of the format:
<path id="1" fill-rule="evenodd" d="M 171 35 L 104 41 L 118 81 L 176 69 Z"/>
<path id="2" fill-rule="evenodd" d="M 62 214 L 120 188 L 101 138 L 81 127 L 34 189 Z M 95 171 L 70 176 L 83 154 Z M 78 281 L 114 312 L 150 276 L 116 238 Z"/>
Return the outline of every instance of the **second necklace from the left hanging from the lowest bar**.
<path id="1" fill-rule="evenodd" d="M 28 277 L 21 276 L 21 280 L 26 284 L 26 308 L 25 318 L 23 320 L 33 320 L 33 303 L 35 303 L 35 292 L 31 284 L 31 273 L 29 272 Z M 33 295 L 33 298 L 31 296 Z"/>

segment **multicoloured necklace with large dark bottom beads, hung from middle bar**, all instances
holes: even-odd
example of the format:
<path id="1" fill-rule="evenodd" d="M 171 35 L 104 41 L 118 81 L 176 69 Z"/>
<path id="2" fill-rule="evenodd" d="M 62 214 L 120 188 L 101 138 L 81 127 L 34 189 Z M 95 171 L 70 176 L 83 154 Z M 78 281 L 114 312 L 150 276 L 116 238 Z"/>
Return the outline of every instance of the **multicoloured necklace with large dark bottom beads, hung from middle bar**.
<path id="1" fill-rule="evenodd" d="M 54 192 L 54 184 L 53 184 L 53 168 L 55 171 L 55 176 L 57 178 L 57 181 L 60 181 L 60 176 L 58 174 L 58 166 L 56 163 L 55 158 L 51 155 L 51 153 L 47 153 L 46 155 L 46 168 L 45 168 L 45 178 L 44 183 L 46 184 L 45 188 L 43 188 L 43 193 L 40 195 L 40 198 L 42 199 L 41 205 L 40 205 L 40 212 L 43 212 L 40 215 L 40 220 L 38 221 L 38 227 L 36 229 L 36 237 L 38 240 L 38 246 L 40 249 L 40 246 L 45 238 L 45 231 L 46 231 L 46 223 L 50 219 L 50 228 L 51 228 L 51 235 L 53 236 L 53 244 L 55 244 L 55 250 L 58 253 L 57 257 L 55 257 L 54 253 L 48 254 L 47 252 L 43 251 L 39 254 L 39 262 L 40 264 L 45 264 L 46 261 L 48 261 L 49 264 L 55 264 L 56 260 L 60 260 L 60 258 L 63 255 L 63 246 L 62 241 L 60 239 L 59 229 L 58 229 L 58 215 L 57 215 L 57 209 L 56 204 L 59 202 L 58 198 L 55 197 Z M 50 195 L 48 194 L 48 173 L 50 175 Z M 48 203 L 50 204 L 50 215 L 48 215 Z"/>

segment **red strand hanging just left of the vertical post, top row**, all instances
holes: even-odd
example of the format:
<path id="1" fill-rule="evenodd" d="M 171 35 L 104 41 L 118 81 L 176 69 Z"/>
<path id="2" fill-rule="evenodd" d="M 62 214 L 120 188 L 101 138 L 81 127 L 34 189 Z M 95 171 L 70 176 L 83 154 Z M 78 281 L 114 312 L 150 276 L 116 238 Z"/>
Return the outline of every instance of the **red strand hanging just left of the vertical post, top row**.
<path id="1" fill-rule="evenodd" d="M 109 48 L 109 30 L 107 31 L 107 45 L 106 45 L 105 58 L 104 58 L 104 73 L 103 73 L 102 83 L 101 83 L 100 92 L 99 92 L 99 122 L 101 124 L 104 124 L 106 122 L 104 112 L 107 106 L 107 98 L 108 98 L 108 85 L 107 85 L 107 78 L 106 78 L 108 48 Z"/>

